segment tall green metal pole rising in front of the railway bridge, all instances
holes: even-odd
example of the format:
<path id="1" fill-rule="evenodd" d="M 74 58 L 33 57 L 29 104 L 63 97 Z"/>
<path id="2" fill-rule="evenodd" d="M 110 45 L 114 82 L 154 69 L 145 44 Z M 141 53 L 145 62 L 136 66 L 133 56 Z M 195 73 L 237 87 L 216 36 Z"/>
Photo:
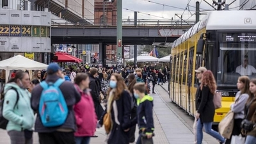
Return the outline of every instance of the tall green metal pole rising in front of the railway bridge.
<path id="1" fill-rule="evenodd" d="M 118 0 L 116 3 L 117 9 L 117 26 L 116 26 L 116 46 L 117 46 L 117 59 L 118 63 L 122 62 L 122 0 Z M 119 65 L 120 68 L 122 65 Z"/>

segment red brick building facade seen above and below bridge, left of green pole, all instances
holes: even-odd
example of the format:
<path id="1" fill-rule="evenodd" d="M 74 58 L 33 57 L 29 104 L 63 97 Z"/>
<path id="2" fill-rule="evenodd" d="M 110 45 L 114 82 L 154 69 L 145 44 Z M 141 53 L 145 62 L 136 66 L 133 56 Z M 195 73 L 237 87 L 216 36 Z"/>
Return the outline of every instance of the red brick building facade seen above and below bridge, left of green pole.
<path id="1" fill-rule="evenodd" d="M 104 0 L 95 0 L 94 22 L 100 26 L 116 26 L 116 0 L 112 3 Z M 115 63 L 116 45 L 106 45 L 107 61 Z"/>

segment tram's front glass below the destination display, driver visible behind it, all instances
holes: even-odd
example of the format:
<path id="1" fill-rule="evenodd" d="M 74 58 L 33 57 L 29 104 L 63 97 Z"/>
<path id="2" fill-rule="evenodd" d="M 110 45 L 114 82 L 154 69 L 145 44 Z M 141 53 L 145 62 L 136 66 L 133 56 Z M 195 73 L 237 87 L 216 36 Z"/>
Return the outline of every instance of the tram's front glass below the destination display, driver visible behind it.
<path id="1" fill-rule="evenodd" d="M 218 84 L 237 83 L 239 76 L 256 77 L 256 44 L 220 44 Z"/>

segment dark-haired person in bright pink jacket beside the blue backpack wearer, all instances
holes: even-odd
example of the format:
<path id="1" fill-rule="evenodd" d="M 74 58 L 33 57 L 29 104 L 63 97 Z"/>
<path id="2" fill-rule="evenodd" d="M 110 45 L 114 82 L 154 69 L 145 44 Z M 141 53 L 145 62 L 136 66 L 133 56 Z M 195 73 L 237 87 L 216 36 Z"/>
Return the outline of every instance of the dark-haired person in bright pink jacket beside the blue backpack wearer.
<path id="1" fill-rule="evenodd" d="M 81 100 L 74 106 L 77 131 L 76 144 L 89 144 L 97 126 L 92 96 L 88 90 L 90 79 L 86 73 L 78 73 L 74 79 L 75 87 L 81 94 Z"/>

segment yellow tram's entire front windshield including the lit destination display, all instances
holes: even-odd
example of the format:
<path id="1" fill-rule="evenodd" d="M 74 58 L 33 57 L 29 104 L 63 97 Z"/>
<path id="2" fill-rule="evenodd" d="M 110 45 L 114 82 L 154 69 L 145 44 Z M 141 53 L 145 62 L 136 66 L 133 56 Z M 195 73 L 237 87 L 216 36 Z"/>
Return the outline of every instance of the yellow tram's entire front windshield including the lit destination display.
<path id="1" fill-rule="evenodd" d="M 220 36 L 217 83 L 234 85 L 239 76 L 256 78 L 255 33 L 225 33 Z"/>

